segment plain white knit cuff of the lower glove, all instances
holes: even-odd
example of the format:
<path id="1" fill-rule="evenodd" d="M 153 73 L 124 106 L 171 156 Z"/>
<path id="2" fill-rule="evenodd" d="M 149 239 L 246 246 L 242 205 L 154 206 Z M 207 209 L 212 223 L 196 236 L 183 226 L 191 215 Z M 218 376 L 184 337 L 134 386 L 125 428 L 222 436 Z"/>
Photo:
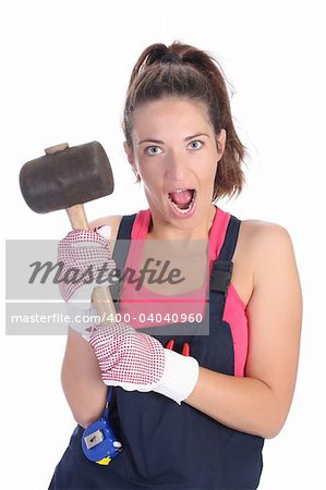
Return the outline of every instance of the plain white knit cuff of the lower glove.
<path id="1" fill-rule="evenodd" d="M 191 394 L 200 376 L 200 365 L 194 357 L 183 356 L 165 348 L 166 365 L 159 383 L 153 391 L 174 400 L 179 405 Z"/>

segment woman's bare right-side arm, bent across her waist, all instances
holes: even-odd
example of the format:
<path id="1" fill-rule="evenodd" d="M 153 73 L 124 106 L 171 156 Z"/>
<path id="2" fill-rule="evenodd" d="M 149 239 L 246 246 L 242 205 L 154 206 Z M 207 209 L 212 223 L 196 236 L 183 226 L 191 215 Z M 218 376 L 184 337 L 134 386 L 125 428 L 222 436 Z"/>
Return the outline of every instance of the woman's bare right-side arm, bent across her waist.
<path id="1" fill-rule="evenodd" d="M 288 232 L 267 223 L 253 238 L 246 377 L 201 368 L 186 403 L 226 426 L 271 438 L 281 429 L 293 396 L 302 297 Z"/>

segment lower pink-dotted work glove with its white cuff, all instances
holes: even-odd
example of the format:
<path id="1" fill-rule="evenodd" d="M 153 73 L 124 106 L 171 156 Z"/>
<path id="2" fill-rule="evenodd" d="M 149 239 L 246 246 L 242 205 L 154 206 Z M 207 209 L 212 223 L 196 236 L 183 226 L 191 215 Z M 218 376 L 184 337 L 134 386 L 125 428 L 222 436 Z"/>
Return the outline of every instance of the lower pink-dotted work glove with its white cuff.
<path id="1" fill-rule="evenodd" d="M 180 404 L 193 391 L 198 363 L 164 348 L 154 336 L 125 323 L 98 327 L 89 344 L 108 385 L 132 391 L 155 391 Z"/>

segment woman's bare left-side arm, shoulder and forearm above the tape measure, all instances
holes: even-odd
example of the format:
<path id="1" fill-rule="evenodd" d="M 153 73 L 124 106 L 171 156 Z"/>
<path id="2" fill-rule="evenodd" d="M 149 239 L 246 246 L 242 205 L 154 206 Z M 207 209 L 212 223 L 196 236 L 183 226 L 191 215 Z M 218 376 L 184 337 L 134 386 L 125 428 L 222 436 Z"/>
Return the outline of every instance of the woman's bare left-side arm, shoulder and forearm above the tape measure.
<path id="1" fill-rule="evenodd" d="M 120 219 L 121 217 L 104 218 L 90 225 L 109 224 L 111 238 L 114 238 Z M 107 385 L 101 380 L 93 347 L 72 329 L 67 339 L 61 382 L 77 424 L 86 427 L 100 417 L 106 404 Z"/>

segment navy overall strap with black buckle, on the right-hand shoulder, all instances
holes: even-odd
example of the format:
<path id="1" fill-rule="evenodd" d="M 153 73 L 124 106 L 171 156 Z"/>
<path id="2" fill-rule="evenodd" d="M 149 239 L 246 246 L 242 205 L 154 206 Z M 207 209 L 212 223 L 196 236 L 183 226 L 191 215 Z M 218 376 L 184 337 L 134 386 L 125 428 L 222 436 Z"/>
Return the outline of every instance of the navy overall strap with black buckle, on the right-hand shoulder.
<path id="1" fill-rule="evenodd" d="M 241 221 L 238 218 L 234 216 L 230 217 L 224 245 L 218 258 L 213 262 L 209 282 L 209 303 L 210 295 L 216 296 L 210 305 L 216 305 L 219 320 L 224 317 L 227 293 L 232 278 L 232 257 L 238 242 L 240 224 Z"/>

